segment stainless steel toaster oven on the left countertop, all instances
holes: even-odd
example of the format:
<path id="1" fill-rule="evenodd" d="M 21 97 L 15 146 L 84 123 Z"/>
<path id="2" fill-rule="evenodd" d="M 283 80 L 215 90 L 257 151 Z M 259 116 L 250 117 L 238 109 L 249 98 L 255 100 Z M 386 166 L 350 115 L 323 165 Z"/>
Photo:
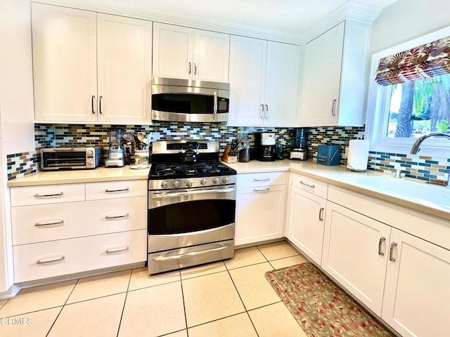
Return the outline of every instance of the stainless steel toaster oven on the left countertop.
<path id="1" fill-rule="evenodd" d="M 95 169 L 101 165 L 101 147 L 51 147 L 41 149 L 41 170 Z"/>

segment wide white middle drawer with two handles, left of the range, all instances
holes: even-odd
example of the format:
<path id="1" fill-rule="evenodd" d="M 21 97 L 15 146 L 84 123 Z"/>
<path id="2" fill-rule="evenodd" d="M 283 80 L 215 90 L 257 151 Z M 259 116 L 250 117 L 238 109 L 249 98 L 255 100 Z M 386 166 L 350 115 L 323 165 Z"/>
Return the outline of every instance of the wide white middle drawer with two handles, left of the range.
<path id="1" fill-rule="evenodd" d="M 141 230 L 147 227 L 147 198 L 13 207 L 11 219 L 14 246 Z"/>

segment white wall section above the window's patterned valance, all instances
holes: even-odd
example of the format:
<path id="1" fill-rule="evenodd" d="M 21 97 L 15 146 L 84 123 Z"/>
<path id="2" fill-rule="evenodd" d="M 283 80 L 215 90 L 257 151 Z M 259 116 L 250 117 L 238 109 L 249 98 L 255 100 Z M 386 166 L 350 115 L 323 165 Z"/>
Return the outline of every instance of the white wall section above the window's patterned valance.
<path id="1" fill-rule="evenodd" d="M 449 0 L 398 0 L 373 22 L 371 54 L 450 25 Z"/>

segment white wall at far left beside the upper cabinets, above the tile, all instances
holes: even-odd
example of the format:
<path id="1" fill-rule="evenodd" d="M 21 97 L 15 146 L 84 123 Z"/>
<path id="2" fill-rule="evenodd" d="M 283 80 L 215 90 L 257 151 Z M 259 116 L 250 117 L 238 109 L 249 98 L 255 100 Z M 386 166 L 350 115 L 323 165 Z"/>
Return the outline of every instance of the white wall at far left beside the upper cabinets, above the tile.
<path id="1" fill-rule="evenodd" d="M 0 44 L 3 154 L 32 151 L 34 103 L 30 0 L 0 0 Z"/>

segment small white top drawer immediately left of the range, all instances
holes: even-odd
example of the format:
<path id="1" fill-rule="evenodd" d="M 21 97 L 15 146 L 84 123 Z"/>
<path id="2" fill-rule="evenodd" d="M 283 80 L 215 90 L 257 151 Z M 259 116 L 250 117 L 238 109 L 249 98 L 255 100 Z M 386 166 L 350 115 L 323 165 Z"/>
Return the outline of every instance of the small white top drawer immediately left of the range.
<path id="1" fill-rule="evenodd" d="M 147 196 L 147 180 L 108 181 L 86 184 L 86 200 Z"/>

